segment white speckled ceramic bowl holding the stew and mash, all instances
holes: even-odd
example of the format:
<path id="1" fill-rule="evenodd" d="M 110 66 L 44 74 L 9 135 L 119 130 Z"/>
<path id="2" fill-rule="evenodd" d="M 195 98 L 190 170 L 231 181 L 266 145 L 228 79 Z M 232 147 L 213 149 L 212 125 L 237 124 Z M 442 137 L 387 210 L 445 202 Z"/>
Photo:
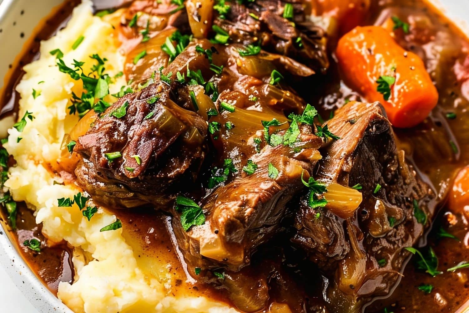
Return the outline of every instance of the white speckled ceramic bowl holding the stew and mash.
<path id="1" fill-rule="evenodd" d="M 378 1 L 378 0 L 372 0 Z M 0 89 L 8 69 L 18 62 L 21 52 L 34 33 L 35 27 L 62 0 L 0 0 Z M 112 0 L 95 0 L 96 3 L 112 3 Z M 115 3 L 121 0 L 115 0 Z M 469 0 L 431 0 L 450 18 L 458 21 L 458 26 L 469 34 Z M 5 133 L 5 130 L 0 130 Z M 20 254 L 16 251 L 0 225 L 0 266 L 10 275 L 16 286 L 30 300 L 39 312 L 71 313 L 60 300 L 45 288 L 31 272 Z M 459 312 L 469 313 L 469 308 Z"/>

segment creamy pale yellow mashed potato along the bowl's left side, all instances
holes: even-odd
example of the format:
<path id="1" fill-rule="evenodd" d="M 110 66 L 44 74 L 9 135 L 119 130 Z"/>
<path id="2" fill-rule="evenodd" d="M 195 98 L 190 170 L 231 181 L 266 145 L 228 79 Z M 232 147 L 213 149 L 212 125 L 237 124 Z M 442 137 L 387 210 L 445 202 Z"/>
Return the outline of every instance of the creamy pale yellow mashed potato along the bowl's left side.
<path id="1" fill-rule="evenodd" d="M 73 50 L 71 46 L 80 36 L 84 40 Z M 68 114 L 67 107 L 72 92 L 81 94 L 83 86 L 59 71 L 49 51 L 61 49 L 67 65 L 74 59 L 84 61 L 85 72 L 94 64 L 89 55 L 98 53 L 108 60 L 106 73 L 114 76 L 124 64 L 114 40 L 112 26 L 93 16 L 91 2 L 85 0 L 74 10 L 65 29 L 42 42 L 40 59 L 24 67 L 26 74 L 17 86 L 21 94 L 20 117 L 28 111 L 35 118 L 27 120 L 23 132 L 8 130 L 5 147 L 17 165 L 9 169 L 6 186 L 16 201 L 25 201 L 36 210 L 36 221 L 43 223 L 43 233 L 51 244 L 66 240 L 75 247 L 75 281 L 62 282 L 58 291 L 58 297 L 73 311 L 235 312 L 203 297 L 168 296 L 171 285 L 138 267 L 132 248 L 122 237 L 122 229 L 99 231 L 116 220 L 114 215 L 99 208 L 88 221 L 76 204 L 58 206 L 57 198 L 73 198 L 80 189 L 74 184 L 54 184 L 61 182 L 61 177 L 47 168 L 56 165 L 62 138 L 78 121 L 77 115 Z M 122 85 L 124 77 L 110 85 L 110 92 L 118 92 Z M 40 91 L 36 99 L 32 89 Z M 18 142 L 19 137 L 22 139 Z M 161 271 L 168 269 L 162 267 Z"/>

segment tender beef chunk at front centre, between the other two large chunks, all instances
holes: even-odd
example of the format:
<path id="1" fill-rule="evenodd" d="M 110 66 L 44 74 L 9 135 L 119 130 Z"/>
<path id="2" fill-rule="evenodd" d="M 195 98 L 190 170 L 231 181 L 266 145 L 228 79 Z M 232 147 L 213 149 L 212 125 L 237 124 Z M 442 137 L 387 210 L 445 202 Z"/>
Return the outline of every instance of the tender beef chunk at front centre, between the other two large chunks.
<path id="1" fill-rule="evenodd" d="M 321 139 L 311 134 L 300 138 L 300 152 L 281 144 L 265 146 L 251 158 L 257 164 L 252 175 L 242 172 L 215 190 L 202 206 L 204 225 L 186 232 L 174 213 L 174 233 L 189 269 L 224 266 L 238 270 L 249 264 L 257 246 L 272 237 L 287 202 L 303 190 L 303 169 L 310 172 L 320 158 Z M 278 169 L 277 177 L 269 177 L 269 163 Z"/>

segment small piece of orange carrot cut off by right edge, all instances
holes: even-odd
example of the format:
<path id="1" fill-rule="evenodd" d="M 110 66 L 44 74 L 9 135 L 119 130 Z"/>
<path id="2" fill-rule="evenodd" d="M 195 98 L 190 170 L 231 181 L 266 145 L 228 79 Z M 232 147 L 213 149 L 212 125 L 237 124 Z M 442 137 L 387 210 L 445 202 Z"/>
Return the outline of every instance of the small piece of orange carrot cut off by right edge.
<path id="1" fill-rule="evenodd" d="M 449 191 L 448 208 L 453 213 L 469 213 L 469 165 L 459 171 Z"/>

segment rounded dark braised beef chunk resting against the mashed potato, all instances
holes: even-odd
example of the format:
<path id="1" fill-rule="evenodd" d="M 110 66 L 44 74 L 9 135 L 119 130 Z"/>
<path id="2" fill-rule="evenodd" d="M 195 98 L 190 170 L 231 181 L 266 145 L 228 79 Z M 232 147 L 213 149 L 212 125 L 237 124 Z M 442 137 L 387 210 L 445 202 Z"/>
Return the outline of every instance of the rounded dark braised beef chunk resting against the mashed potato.
<path id="1" fill-rule="evenodd" d="M 78 138 L 74 151 L 83 160 L 77 182 L 97 202 L 118 207 L 166 203 L 175 183 L 197 176 L 207 125 L 175 104 L 170 90 L 159 81 L 122 97 Z"/>

